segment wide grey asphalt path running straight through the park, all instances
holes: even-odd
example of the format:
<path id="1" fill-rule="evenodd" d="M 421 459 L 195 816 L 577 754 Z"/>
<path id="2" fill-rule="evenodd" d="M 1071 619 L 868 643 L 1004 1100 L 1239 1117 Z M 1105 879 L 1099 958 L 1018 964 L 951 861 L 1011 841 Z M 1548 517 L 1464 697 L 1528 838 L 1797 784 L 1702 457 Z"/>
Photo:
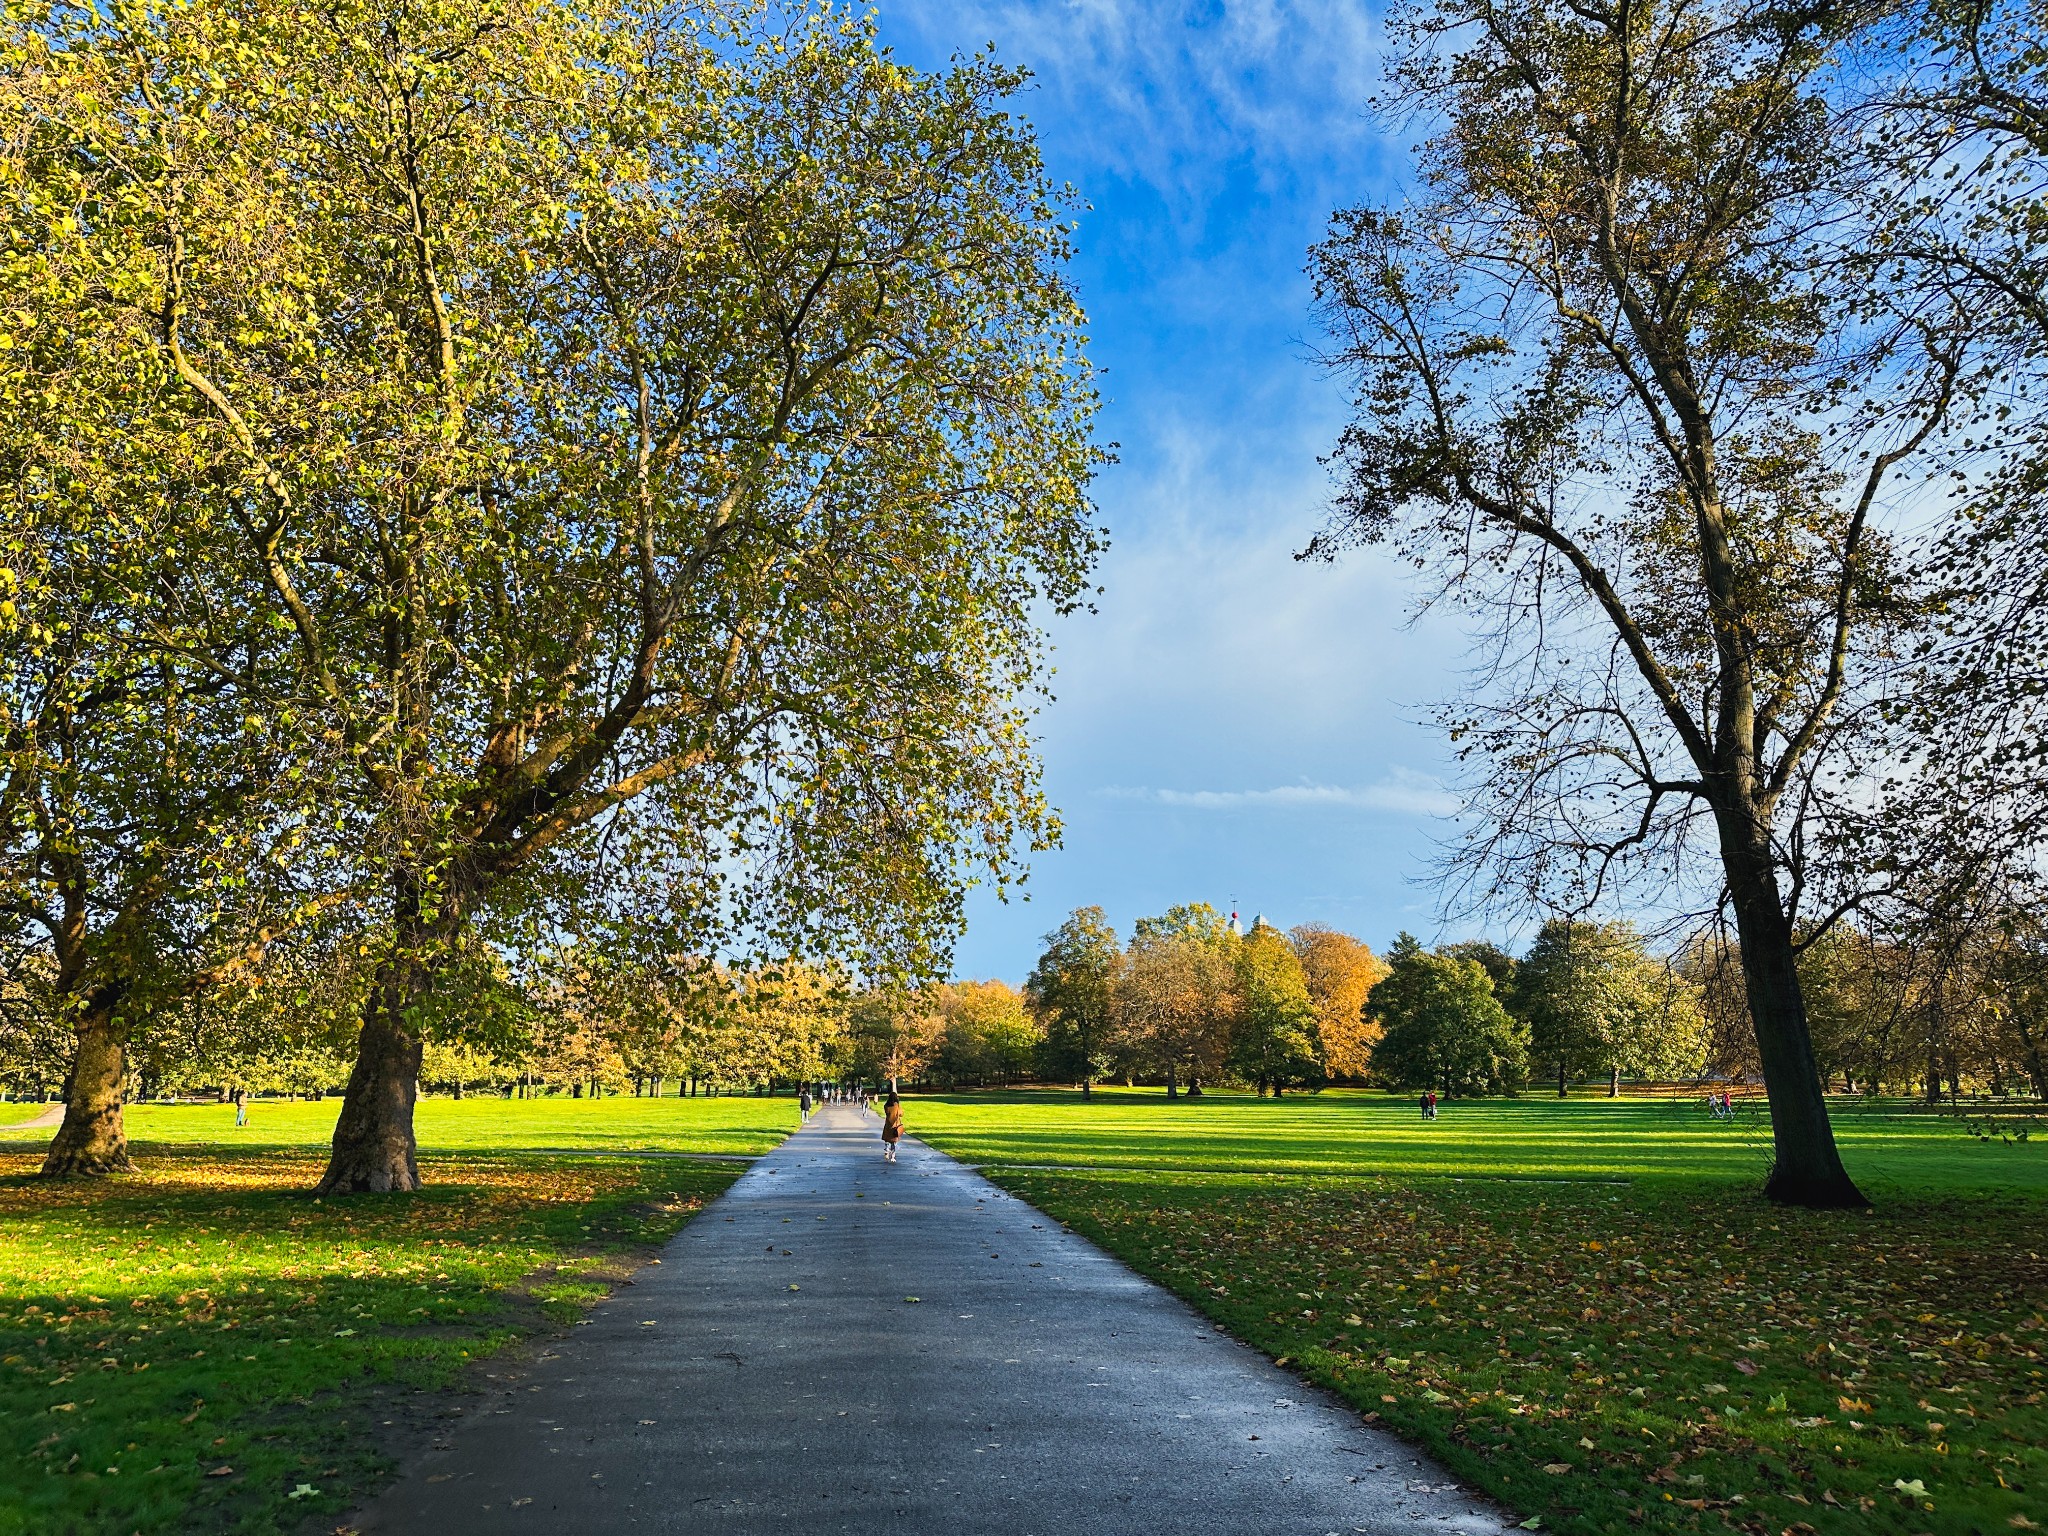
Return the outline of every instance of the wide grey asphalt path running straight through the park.
<path id="1" fill-rule="evenodd" d="M 760 1159 L 565 1341 L 496 1370 L 350 1524 L 1507 1530 L 1421 1452 L 950 1157 L 905 1141 L 885 1165 L 852 1106 Z"/>

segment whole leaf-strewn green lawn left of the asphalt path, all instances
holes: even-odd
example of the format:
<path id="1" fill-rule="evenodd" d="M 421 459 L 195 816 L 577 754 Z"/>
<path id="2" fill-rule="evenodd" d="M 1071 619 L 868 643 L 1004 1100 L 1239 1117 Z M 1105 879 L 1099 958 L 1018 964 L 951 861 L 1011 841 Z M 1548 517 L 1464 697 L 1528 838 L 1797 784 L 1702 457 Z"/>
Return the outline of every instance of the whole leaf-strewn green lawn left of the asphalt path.
<path id="1" fill-rule="evenodd" d="M 313 1200 L 332 1120 L 143 1108 L 141 1171 L 92 1184 L 33 1178 L 47 1130 L 0 1147 L 0 1536 L 276 1532 L 354 1505 L 453 1407 L 434 1389 L 578 1315 L 739 1171 L 496 1147 L 760 1153 L 795 1108 L 436 1100 L 422 1141 L 469 1151 L 428 1151 L 422 1194 Z"/>

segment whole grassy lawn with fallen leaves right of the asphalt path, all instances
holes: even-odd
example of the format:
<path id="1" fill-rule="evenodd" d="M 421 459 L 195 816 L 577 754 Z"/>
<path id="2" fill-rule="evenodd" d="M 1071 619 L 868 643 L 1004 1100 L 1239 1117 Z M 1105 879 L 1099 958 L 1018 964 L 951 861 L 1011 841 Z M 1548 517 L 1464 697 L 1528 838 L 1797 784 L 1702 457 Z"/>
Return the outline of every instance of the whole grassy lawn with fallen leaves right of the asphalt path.
<path id="1" fill-rule="evenodd" d="M 1765 1206 L 1763 1122 L 1671 1102 L 909 1104 L 1532 1530 L 2048 1528 L 2048 1145 L 1839 1124 L 1872 1212 Z"/>

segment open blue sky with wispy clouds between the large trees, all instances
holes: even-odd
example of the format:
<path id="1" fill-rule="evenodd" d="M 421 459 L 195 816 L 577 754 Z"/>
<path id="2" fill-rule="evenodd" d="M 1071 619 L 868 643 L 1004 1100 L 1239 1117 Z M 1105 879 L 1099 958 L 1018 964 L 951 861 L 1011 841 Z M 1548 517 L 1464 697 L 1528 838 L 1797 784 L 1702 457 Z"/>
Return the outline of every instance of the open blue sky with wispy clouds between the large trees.
<path id="1" fill-rule="evenodd" d="M 1028 901 L 977 895 L 956 971 L 1022 981 L 1075 905 L 1122 932 L 1176 901 L 1438 932 L 1427 881 L 1456 801 L 1423 713 L 1462 639 L 1407 625 L 1380 553 L 1305 565 L 1343 418 L 1311 360 L 1303 262 L 1333 207 L 1399 193 L 1407 145 L 1364 117 L 1380 31 L 1339 0 L 883 0 L 934 66 L 987 43 L 1075 186 L 1075 279 L 1104 369 L 1100 612 L 1055 629 L 1040 725 L 1065 848 Z"/>

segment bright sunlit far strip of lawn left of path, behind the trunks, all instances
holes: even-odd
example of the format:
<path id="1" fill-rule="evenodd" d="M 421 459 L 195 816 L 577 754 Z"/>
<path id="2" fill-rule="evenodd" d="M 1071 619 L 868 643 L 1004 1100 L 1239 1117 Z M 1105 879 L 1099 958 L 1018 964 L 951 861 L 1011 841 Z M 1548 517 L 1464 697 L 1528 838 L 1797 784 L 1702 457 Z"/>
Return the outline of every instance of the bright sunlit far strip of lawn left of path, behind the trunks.
<path id="1" fill-rule="evenodd" d="M 0 1104 L 0 1124 L 37 1114 Z M 231 1104 L 131 1104 L 127 1135 L 139 1155 L 158 1145 L 326 1147 L 330 1100 L 262 1100 L 236 1128 Z M 793 1098 L 424 1098 L 414 1114 L 422 1151 L 690 1151 L 758 1155 L 797 1128 Z M 49 1130 L 4 1130 L 0 1147 L 49 1145 Z"/>

